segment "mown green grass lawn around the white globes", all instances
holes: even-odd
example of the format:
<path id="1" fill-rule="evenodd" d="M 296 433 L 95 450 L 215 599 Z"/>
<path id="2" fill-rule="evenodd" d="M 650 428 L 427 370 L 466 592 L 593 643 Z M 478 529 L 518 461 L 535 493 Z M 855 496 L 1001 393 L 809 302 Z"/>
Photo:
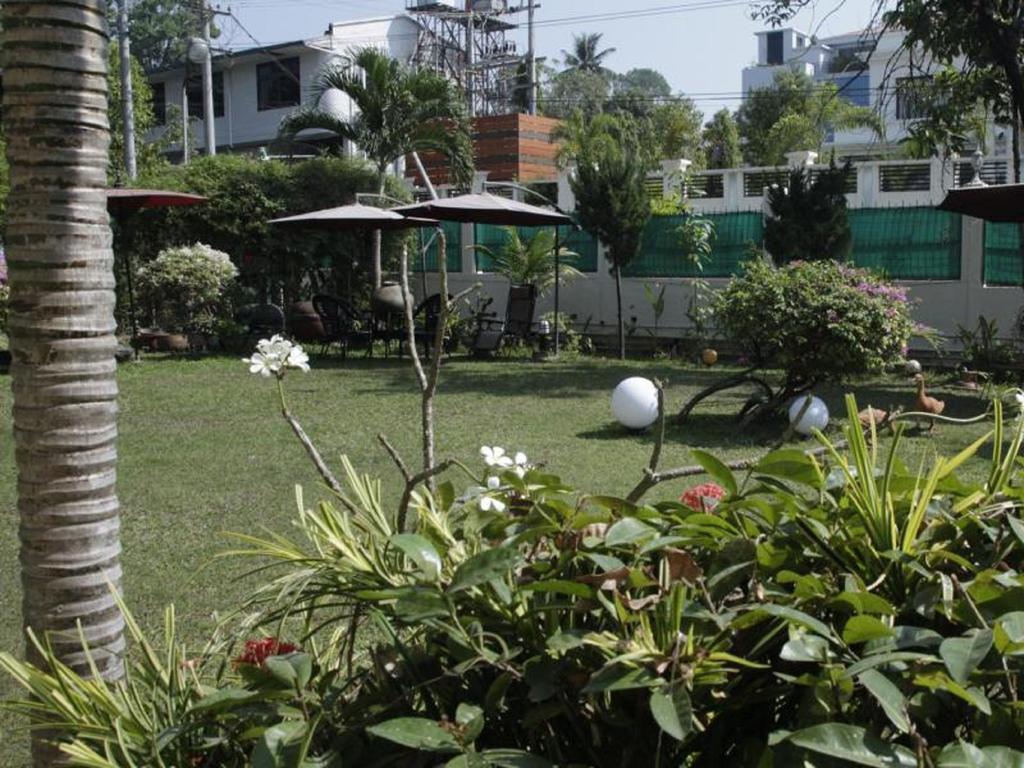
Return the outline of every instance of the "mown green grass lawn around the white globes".
<path id="1" fill-rule="evenodd" d="M 545 462 L 575 487 L 625 496 L 646 465 L 652 437 L 613 424 L 608 400 L 620 380 L 636 375 L 668 382 L 671 413 L 724 372 L 670 360 L 452 359 L 442 369 L 438 394 L 437 455 L 472 466 L 478 463 L 481 444 L 500 444 Z M 229 545 L 222 532 L 287 531 L 294 517 L 295 484 L 304 485 L 307 498 L 312 498 L 318 477 L 276 411 L 273 385 L 248 375 L 237 358 L 150 358 L 123 366 L 118 378 L 125 594 L 150 628 L 159 626 L 164 605 L 174 602 L 180 632 L 195 646 L 216 623 L 218 611 L 238 603 L 254 586 L 251 579 L 238 578 L 244 563 L 217 557 Z M 358 469 L 382 477 L 387 495 L 396 502 L 399 478 L 376 435 L 385 432 L 411 465 L 418 461 L 419 395 L 408 361 L 314 360 L 312 373 L 290 375 L 287 387 L 293 413 L 325 457 L 337 465 L 337 458 L 347 454 Z M 862 406 L 909 408 L 913 401 L 911 386 L 901 379 L 864 382 L 851 389 Z M 828 388 L 818 393 L 838 415 L 843 391 Z M 946 399 L 951 416 L 984 410 L 984 400 L 975 393 L 941 385 L 934 391 Z M 772 447 L 781 424 L 753 429 L 736 425 L 733 416 L 744 396 L 723 393 L 699 406 L 684 427 L 671 425 L 662 466 L 692 463 L 692 447 L 725 460 Z M 10 408 L 9 386 L 6 377 L 0 377 L 5 425 Z M 943 426 L 934 434 L 912 434 L 904 460 L 916 467 L 936 452 L 952 455 L 984 430 L 984 425 Z M 980 472 L 980 466 L 977 463 L 973 472 Z M 677 498 L 685 485 L 667 483 L 650 498 Z M 9 431 L 0 439 L 0 511 L 6 513 L 0 526 L 0 560 L 8 563 L 0 568 L 0 648 L 19 651 Z M 12 692 L 7 681 L 0 680 L 0 696 Z M 11 732 L 15 726 L 0 716 L 4 765 L 17 765 L 24 750 L 24 735 Z"/>

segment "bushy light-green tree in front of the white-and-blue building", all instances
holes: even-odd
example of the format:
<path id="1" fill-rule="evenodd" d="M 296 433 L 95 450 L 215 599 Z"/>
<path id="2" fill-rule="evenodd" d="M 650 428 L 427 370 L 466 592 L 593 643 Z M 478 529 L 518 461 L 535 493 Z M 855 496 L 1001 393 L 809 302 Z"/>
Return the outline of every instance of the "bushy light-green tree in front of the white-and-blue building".
<path id="1" fill-rule="evenodd" d="M 785 153 L 820 150 L 829 130 L 871 128 L 878 116 L 842 98 L 833 83 L 783 70 L 768 88 L 752 91 L 736 114 L 743 159 L 751 165 L 780 165 Z"/>

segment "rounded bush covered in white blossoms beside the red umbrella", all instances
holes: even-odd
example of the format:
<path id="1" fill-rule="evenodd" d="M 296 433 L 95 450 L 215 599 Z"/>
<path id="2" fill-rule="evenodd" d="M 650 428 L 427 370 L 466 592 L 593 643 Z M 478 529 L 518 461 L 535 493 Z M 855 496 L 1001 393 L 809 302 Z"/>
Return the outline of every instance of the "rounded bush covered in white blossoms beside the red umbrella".
<path id="1" fill-rule="evenodd" d="M 138 288 L 164 330 L 208 332 L 238 273 L 226 253 L 197 243 L 161 251 L 138 270 Z"/>

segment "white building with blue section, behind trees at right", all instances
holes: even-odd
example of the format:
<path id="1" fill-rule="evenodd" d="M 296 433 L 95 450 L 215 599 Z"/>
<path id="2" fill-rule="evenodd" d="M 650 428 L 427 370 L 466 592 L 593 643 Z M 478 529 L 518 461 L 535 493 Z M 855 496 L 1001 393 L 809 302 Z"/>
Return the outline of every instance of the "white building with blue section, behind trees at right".
<path id="1" fill-rule="evenodd" d="M 742 92 L 771 86 L 782 70 L 796 70 L 815 82 L 831 82 L 840 95 L 859 106 L 869 106 L 882 118 L 885 135 L 879 138 L 870 130 L 840 131 L 829 147 L 853 157 L 900 154 L 900 140 L 907 129 L 923 117 L 923 102 L 916 96 L 922 81 L 931 79 L 938 66 L 920 52 L 911 56 L 902 49 L 899 30 L 878 34 L 855 32 L 827 38 L 814 38 L 787 28 L 757 33 L 757 63 L 742 72 Z M 991 126 L 989 153 L 1008 154 L 1006 129 Z"/>

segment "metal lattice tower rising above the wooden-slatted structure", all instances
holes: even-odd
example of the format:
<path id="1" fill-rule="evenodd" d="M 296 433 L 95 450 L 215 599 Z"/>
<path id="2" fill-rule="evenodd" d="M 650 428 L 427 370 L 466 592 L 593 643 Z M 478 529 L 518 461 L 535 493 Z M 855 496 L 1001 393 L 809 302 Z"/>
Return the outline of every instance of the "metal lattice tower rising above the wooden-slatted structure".
<path id="1" fill-rule="evenodd" d="M 505 115 L 523 57 L 508 33 L 522 8 L 508 0 L 406 0 L 420 25 L 413 65 L 434 70 L 467 95 L 471 115 Z"/>

